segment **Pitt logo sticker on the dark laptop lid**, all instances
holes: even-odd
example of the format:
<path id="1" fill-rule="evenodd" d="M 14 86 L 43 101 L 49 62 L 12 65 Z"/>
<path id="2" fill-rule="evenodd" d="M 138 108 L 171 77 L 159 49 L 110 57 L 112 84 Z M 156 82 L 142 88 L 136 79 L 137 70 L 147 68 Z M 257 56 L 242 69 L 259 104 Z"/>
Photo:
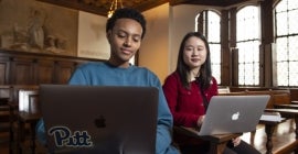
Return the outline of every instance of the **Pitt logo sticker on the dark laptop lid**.
<path id="1" fill-rule="evenodd" d="M 67 127 L 53 127 L 49 130 L 49 134 L 54 136 L 56 146 L 92 146 L 91 135 L 87 131 L 72 131 Z"/>

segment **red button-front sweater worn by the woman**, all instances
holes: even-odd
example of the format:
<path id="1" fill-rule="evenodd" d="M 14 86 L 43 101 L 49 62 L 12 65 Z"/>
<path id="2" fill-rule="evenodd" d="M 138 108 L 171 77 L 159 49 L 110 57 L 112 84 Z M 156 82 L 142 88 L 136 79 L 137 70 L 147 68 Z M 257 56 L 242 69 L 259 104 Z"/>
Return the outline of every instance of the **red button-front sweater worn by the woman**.
<path id="1" fill-rule="evenodd" d="M 174 125 L 195 128 L 200 116 L 205 114 L 201 90 L 195 81 L 190 84 L 191 88 L 182 86 L 177 72 L 167 77 L 162 86 L 169 108 L 173 116 Z M 210 88 L 204 91 L 207 101 L 212 96 L 216 96 L 217 81 L 212 78 Z"/>

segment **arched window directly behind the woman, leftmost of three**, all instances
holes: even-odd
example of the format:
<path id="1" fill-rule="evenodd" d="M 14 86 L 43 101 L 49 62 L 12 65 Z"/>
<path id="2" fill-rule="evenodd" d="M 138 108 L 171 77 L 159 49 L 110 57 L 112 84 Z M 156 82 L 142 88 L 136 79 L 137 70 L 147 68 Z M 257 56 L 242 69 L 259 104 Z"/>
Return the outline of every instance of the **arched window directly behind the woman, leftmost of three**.
<path id="1" fill-rule="evenodd" d="M 196 31 L 202 32 L 209 42 L 212 74 L 221 84 L 221 16 L 219 13 L 204 10 L 199 14 Z"/>

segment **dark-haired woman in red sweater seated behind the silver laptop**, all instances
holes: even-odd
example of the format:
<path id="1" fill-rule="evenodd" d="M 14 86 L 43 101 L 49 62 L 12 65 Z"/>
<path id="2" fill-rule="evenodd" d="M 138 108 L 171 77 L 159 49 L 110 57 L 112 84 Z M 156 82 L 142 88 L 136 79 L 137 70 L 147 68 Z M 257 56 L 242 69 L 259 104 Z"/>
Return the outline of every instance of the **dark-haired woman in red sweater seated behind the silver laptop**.
<path id="1" fill-rule="evenodd" d="M 210 47 L 199 32 L 188 33 L 181 42 L 177 69 L 169 75 L 163 92 L 173 116 L 174 125 L 200 127 L 210 99 L 217 95 L 217 82 L 212 76 Z M 209 152 L 209 143 L 174 134 L 182 154 Z M 225 154 L 259 154 L 249 144 L 236 138 L 227 144 Z"/>

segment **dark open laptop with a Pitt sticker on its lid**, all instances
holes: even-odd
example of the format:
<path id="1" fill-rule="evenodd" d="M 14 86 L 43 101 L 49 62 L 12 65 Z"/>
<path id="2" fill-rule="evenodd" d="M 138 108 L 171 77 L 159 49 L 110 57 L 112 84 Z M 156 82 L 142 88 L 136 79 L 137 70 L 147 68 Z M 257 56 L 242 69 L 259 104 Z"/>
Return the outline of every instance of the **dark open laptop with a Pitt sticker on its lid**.
<path id="1" fill-rule="evenodd" d="M 50 153 L 152 154 L 158 89 L 41 85 Z"/>

